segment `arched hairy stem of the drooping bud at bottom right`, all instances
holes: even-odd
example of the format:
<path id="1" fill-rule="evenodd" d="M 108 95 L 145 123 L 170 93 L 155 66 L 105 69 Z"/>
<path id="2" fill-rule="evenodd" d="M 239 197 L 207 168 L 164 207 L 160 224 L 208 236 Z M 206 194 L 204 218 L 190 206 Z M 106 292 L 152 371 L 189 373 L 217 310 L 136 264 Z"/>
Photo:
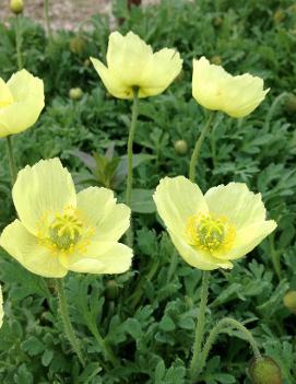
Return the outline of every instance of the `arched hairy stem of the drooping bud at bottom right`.
<path id="1" fill-rule="evenodd" d="M 201 353 L 200 364 L 197 368 L 197 372 L 196 372 L 197 376 L 202 372 L 202 370 L 205 365 L 209 352 L 210 352 L 213 344 L 215 342 L 218 334 L 227 331 L 229 327 L 238 329 L 245 336 L 245 339 L 248 340 L 248 342 L 251 346 L 251 349 L 252 349 L 252 352 L 253 352 L 256 359 L 261 358 L 261 353 L 259 351 L 257 342 L 256 342 L 254 338 L 252 337 L 251 333 L 238 321 L 230 318 L 230 317 L 224 317 L 211 330 L 211 333 L 205 341 L 203 351 Z"/>

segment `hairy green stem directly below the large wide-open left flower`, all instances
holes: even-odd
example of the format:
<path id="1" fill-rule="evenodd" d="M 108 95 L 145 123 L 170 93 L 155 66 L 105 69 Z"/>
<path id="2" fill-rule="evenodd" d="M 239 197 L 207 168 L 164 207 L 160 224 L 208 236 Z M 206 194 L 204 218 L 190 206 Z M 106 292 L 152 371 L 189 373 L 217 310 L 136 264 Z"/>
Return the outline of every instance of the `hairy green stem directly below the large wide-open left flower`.
<path id="1" fill-rule="evenodd" d="M 85 366 L 84 358 L 82 354 L 82 351 L 80 349 L 79 340 L 75 336 L 74 329 L 72 327 L 70 317 L 69 317 L 69 311 L 68 311 L 68 304 L 67 304 L 67 298 L 64 293 L 64 288 L 63 288 L 63 281 L 62 279 L 56 279 L 56 287 L 57 287 L 57 292 L 58 292 L 58 298 L 59 298 L 59 309 L 60 309 L 60 314 L 64 327 L 64 333 L 68 337 L 68 340 L 70 341 L 74 352 L 76 353 L 81 364 Z"/>

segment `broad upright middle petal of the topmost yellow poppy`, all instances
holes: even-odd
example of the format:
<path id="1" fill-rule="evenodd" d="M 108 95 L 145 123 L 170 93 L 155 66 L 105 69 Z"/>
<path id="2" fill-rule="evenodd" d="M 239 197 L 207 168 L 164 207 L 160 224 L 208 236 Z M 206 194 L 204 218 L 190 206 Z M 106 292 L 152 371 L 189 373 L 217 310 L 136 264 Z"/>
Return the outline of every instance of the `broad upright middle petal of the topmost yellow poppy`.
<path id="1" fill-rule="evenodd" d="M 153 53 L 150 45 L 129 32 L 122 36 L 113 32 L 109 36 L 107 65 L 127 86 L 140 85 L 145 77 Z"/>

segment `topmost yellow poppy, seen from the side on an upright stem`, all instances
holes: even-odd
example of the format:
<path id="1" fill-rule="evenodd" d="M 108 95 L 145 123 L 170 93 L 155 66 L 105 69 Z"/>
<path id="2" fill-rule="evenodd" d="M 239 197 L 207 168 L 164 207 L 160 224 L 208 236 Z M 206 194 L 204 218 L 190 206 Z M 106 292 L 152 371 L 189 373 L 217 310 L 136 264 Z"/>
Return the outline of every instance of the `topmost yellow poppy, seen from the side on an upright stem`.
<path id="1" fill-rule="evenodd" d="M 109 36 L 107 67 L 91 58 L 108 92 L 118 98 L 132 98 L 133 88 L 139 97 L 164 92 L 182 67 L 175 49 L 164 48 L 153 54 L 150 45 L 129 32 L 126 36 L 113 32 Z"/>

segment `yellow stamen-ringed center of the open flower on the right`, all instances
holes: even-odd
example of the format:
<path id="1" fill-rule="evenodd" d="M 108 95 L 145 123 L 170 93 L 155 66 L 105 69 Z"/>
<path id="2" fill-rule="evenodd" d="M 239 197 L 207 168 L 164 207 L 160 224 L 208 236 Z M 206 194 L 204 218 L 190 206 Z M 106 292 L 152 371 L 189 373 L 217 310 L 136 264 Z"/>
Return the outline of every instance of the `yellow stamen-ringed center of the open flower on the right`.
<path id="1" fill-rule="evenodd" d="M 190 245 L 209 252 L 228 251 L 236 236 L 236 230 L 227 218 L 212 213 L 190 217 L 186 232 Z"/>

